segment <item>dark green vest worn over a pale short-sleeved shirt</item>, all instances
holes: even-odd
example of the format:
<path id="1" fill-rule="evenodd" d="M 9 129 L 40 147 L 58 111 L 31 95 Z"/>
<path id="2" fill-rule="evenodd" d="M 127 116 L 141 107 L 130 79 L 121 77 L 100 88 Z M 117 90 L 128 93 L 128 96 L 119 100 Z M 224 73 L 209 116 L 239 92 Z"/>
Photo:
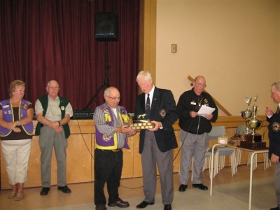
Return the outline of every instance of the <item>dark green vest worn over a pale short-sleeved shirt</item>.
<path id="1" fill-rule="evenodd" d="M 59 101 L 60 101 L 59 107 L 62 107 L 62 106 L 66 107 L 69 104 L 68 99 L 62 98 L 60 96 L 58 96 L 58 97 L 59 97 Z M 38 100 L 41 102 L 41 104 L 43 106 L 43 116 L 45 116 L 45 113 L 47 113 L 47 109 L 48 109 L 48 94 L 43 95 Z M 65 109 L 64 110 L 60 109 L 60 110 L 62 112 L 62 119 L 63 119 L 65 116 Z M 62 125 L 62 126 L 63 126 L 63 130 L 64 130 L 65 138 L 67 139 L 70 136 L 70 127 L 69 127 L 68 123 L 66 123 L 65 125 Z M 41 127 L 42 127 L 42 123 L 38 122 L 36 125 L 36 130 L 35 130 L 36 136 L 40 135 Z"/>

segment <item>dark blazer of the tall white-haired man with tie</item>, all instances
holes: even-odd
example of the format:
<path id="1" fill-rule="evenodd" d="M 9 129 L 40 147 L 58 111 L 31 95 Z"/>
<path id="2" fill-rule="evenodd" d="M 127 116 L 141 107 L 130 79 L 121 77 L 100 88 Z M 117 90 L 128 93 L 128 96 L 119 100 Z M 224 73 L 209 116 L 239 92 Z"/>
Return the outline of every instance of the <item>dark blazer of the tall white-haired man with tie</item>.
<path id="1" fill-rule="evenodd" d="M 178 119 L 178 114 L 176 113 L 176 102 L 172 92 L 155 87 L 151 104 L 150 120 L 159 121 L 163 127 L 154 132 L 158 148 L 162 152 L 177 148 L 178 145 L 172 125 Z M 134 120 L 137 120 L 137 117 L 144 113 L 146 113 L 145 93 L 142 93 L 136 98 Z M 144 148 L 145 132 L 146 130 L 141 130 L 140 132 L 140 154 Z"/>

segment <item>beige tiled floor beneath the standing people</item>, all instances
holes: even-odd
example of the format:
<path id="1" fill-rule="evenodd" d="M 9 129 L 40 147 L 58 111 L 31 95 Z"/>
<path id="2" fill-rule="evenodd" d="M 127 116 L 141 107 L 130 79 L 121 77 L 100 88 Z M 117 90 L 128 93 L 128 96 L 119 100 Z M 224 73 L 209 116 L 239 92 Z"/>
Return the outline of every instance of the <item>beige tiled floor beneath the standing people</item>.
<path id="1" fill-rule="evenodd" d="M 192 188 L 192 183 L 189 181 L 186 192 L 179 192 L 179 175 L 174 174 L 172 209 L 248 209 L 249 170 L 249 166 L 241 165 L 237 167 L 237 174 L 231 176 L 230 167 L 222 169 L 214 178 L 212 196 L 210 196 L 208 169 L 202 172 L 203 183 L 209 186 L 209 190 L 206 191 Z M 274 166 L 264 170 L 262 163 L 259 163 L 253 172 L 252 210 L 276 207 L 273 174 Z M 20 202 L 8 200 L 9 190 L 0 190 L 0 209 L 95 209 L 93 202 L 94 183 L 79 183 L 68 186 L 72 190 L 71 194 L 64 194 L 57 190 L 57 186 L 52 186 L 50 193 L 46 196 L 39 194 L 41 188 L 26 188 L 25 199 Z M 130 207 L 127 209 L 137 209 L 137 204 L 144 200 L 142 179 L 122 179 L 119 193 L 123 200 L 130 202 Z M 120 208 L 107 207 L 107 209 Z M 155 204 L 146 207 L 146 209 L 163 209 L 159 180 Z"/>

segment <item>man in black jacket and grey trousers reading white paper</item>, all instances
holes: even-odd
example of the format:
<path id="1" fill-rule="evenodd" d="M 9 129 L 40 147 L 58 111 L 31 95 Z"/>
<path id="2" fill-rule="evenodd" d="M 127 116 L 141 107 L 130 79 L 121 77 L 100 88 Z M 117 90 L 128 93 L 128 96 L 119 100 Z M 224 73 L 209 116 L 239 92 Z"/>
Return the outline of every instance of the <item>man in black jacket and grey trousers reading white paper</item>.
<path id="1" fill-rule="evenodd" d="M 218 118 L 217 106 L 207 92 L 204 92 L 206 80 L 203 76 L 197 76 L 193 82 L 192 90 L 181 94 L 177 104 L 179 114 L 179 126 L 181 128 L 181 162 L 180 162 L 180 192 L 188 188 L 190 177 L 190 165 L 193 160 L 193 188 L 208 190 L 202 184 L 201 172 L 204 166 L 204 154 L 208 148 L 209 136 L 212 125 Z M 211 114 L 200 116 L 197 113 L 200 108 L 209 106 L 215 110 Z"/>

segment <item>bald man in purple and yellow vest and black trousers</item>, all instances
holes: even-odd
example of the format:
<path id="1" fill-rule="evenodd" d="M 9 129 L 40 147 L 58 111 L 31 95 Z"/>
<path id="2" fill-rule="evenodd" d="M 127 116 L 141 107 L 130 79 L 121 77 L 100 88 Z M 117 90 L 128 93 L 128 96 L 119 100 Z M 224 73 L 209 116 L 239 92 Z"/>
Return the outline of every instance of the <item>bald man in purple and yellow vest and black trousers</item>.
<path id="1" fill-rule="evenodd" d="M 94 111 L 96 149 L 94 151 L 94 204 L 106 210 L 104 186 L 107 183 L 109 207 L 130 207 L 120 199 L 118 187 L 123 169 L 123 148 L 129 148 L 127 137 L 136 134 L 128 128 L 130 118 L 125 107 L 119 106 L 120 92 L 116 87 L 104 91 L 105 103 Z"/>

